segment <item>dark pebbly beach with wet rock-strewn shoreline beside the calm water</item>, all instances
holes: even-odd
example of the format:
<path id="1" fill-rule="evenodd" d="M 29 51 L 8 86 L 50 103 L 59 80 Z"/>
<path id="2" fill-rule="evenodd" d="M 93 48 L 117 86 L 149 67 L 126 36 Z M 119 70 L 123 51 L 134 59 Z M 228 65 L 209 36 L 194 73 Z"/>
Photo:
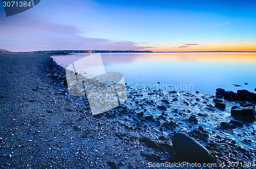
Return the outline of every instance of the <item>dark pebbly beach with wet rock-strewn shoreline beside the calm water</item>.
<path id="1" fill-rule="evenodd" d="M 126 86 L 124 104 L 92 116 L 86 97 L 69 94 L 65 69 L 50 55 L 0 54 L 0 60 L 0 168 L 154 168 L 184 161 L 172 140 L 180 132 L 218 166 L 256 163 L 255 122 L 231 116 L 255 106 L 253 96 Z"/>

